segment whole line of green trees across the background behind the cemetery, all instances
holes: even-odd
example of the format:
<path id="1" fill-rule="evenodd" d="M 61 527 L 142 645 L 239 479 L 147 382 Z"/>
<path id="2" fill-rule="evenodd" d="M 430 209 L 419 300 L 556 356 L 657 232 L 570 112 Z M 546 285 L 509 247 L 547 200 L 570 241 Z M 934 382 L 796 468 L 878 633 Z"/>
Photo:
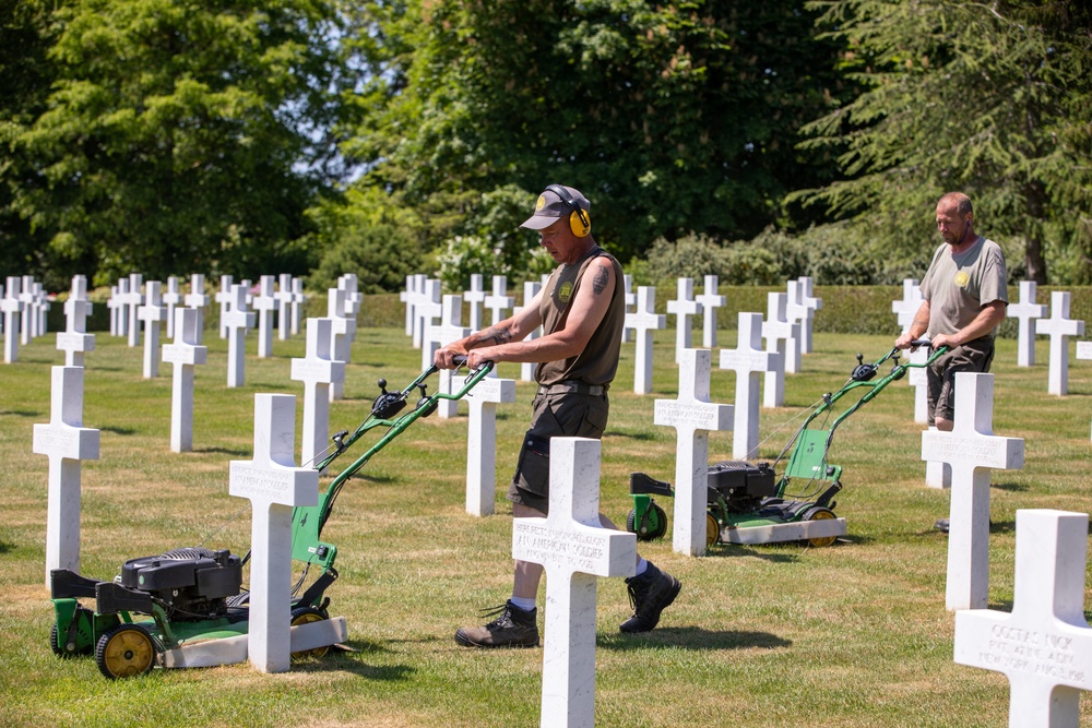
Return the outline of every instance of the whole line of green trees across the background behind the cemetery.
<path id="1" fill-rule="evenodd" d="M 653 282 L 919 276 L 960 189 L 1013 278 L 1092 283 L 1080 0 L 0 0 L 0 272 L 54 290 L 534 275 L 550 182 Z"/>

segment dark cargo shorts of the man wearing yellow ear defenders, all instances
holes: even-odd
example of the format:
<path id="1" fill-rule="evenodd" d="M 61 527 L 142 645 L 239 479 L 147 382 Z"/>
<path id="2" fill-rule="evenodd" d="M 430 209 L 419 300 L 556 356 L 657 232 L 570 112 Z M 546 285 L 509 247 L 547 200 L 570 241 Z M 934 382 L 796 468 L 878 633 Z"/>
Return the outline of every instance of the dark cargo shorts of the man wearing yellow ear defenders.
<path id="1" fill-rule="evenodd" d="M 607 427 L 609 403 L 606 393 L 541 393 L 532 408 L 531 429 L 523 437 L 515 475 L 508 488 L 508 500 L 549 513 L 550 439 L 601 439 Z"/>

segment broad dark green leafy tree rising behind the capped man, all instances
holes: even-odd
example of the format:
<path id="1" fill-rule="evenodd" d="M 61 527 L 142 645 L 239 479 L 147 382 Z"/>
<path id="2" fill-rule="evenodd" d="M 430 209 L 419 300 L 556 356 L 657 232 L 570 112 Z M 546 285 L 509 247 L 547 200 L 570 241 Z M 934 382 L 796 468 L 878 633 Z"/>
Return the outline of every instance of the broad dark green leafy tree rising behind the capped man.
<path id="1" fill-rule="evenodd" d="M 383 3 L 387 5 L 387 3 Z M 690 230 L 749 237 L 829 179 L 796 130 L 848 93 L 803 1 L 404 2 L 383 19 L 380 99 L 348 154 L 426 240 L 476 234 L 487 193 L 592 200 L 624 258 Z"/>

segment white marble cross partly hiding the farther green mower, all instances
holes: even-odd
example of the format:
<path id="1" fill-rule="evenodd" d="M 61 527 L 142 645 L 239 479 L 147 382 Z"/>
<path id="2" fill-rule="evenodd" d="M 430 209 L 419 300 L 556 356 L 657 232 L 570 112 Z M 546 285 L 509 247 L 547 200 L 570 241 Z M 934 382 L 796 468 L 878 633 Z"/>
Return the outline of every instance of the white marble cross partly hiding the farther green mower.
<path id="1" fill-rule="evenodd" d="M 709 402 L 709 349 L 686 349 L 679 363 L 677 399 L 657 399 L 656 425 L 674 427 L 675 520 L 672 546 L 678 553 L 705 552 L 705 513 L 709 509 L 709 433 L 732 429 L 732 405 Z"/>

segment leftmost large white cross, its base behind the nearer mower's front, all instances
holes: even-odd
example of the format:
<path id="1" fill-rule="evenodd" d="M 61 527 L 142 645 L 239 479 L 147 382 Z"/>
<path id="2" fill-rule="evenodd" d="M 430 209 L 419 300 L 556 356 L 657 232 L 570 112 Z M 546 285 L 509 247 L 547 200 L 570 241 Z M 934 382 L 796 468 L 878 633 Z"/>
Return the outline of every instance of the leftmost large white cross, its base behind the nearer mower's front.
<path id="1" fill-rule="evenodd" d="M 81 462 L 98 460 L 98 430 L 83 426 L 83 367 L 54 367 L 49 423 L 34 426 L 33 452 L 49 457 L 46 586 L 54 569 L 80 569 Z"/>

